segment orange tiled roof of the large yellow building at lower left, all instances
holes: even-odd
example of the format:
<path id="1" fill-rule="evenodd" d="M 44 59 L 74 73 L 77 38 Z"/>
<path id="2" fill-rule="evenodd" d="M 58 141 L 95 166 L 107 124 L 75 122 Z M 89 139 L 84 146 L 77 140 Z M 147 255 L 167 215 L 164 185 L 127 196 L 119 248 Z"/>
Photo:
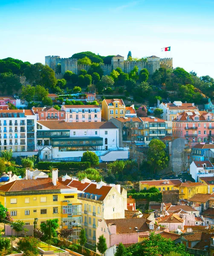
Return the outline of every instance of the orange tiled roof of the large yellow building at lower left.
<path id="1" fill-rule="evenodd" d="M 69 189 L 68 186 L 57 181 L 54 186 L 51 178 L 38 178 L 36 180 L 14 180 L 6 185 L 0 186 L 0 191 L 17 192 L 17 191 L 35 191 L 50 189 Z"/>

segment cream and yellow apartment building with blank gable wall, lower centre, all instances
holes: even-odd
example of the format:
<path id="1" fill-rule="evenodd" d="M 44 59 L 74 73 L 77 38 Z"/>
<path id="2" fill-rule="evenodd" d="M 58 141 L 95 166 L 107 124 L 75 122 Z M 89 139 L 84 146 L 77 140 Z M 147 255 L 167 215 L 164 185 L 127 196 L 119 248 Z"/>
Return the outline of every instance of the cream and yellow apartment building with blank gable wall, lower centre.
<path id="1" fill-rule="evenodd" d="M 98 221 L 102 219 L 124 218 L 127 209 L 127 191 L 120 185 L 91 181 L 87 178 L 79 181 L 74 177 L 59 178 L 59 182 L 83 191 L 78 194 L 82 204 L 82 227 L 85 229 L 87 241 L 96 242 Z"/>

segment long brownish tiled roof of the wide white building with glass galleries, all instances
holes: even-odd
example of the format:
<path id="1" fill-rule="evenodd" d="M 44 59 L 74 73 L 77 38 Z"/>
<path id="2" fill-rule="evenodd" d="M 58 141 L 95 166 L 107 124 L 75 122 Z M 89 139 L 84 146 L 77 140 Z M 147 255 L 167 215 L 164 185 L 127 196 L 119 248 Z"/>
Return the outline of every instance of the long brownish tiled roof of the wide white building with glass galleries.
<path id="1" fill-rule="evenodd" d="M 64 121 L 37 121 L 50 130 L 72 130 L 72 129 L 115 129 L 112 122 L 64 122 Z"/>

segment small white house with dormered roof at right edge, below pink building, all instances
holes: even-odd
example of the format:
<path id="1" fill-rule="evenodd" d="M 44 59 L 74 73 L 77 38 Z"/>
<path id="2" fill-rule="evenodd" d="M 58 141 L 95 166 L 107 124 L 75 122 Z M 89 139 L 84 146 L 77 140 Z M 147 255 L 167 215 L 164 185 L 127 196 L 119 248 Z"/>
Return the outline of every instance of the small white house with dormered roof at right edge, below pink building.
<path id="1" fill-rule="evenodd" d="M 199 177 L 213 177 L 214 166 L 208 160 L 205 161 L 192 161 L 190 165 L 190 174 L 193 179 L 198 182 Z"/>

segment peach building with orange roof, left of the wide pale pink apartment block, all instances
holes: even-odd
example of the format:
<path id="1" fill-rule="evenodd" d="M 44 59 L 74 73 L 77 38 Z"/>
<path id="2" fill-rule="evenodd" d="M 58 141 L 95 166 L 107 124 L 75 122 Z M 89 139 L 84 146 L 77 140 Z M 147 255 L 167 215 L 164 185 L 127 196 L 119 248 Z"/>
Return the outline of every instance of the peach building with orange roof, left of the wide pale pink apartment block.
<path id="1" fill-rule="evenodd" d="M 55 108 L 40 108 L 40 107 L 33 107 L 32 111 L 37 116 L 37 120 L 40 121 L 47 121 L 47 120 L 65 120 L 65 111 L 58 111 Z"/>

